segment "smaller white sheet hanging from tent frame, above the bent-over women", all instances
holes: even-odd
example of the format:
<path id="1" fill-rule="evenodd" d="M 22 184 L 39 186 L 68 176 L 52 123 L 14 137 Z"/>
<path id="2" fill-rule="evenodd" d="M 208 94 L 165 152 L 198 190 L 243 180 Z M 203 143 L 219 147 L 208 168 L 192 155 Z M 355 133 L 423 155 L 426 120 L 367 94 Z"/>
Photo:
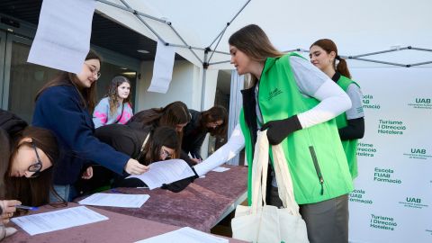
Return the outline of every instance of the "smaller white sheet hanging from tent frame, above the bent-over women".
<path id="1" fill-rule="evenodd" d="M 147 91 L 166 94 L 173 78 L 175 48 L 157 41 L 153 76 Z"/>

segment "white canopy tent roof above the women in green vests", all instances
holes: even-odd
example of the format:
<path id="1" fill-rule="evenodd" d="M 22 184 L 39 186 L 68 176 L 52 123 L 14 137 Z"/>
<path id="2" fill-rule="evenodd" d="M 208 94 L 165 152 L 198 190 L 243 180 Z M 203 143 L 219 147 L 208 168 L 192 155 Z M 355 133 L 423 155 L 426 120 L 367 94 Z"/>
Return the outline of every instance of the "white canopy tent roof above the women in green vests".
<path id="1" fill-rule="evenodd" d="M 432 53 L 383 54 L 410 47 L 430 51 L 430 7 L 428 0 L 410 5 L 402 0 L 98 0 L 96 4 L 101 14 L 175 46 L 178 54 L 198 67 L 209 64 L 216 69 L 232 68 L 228 38 L 249 23 L 260 25 L 281 50 L 309 49 L 313 41 L 329 38 L 337 41 L 340 56 L 361 58 L 356 56 L 374 53 L 378 56 L 370 59 L 402 67 L 430 64 Z M 207 55 L 206 48 L 210 48 Z"/>

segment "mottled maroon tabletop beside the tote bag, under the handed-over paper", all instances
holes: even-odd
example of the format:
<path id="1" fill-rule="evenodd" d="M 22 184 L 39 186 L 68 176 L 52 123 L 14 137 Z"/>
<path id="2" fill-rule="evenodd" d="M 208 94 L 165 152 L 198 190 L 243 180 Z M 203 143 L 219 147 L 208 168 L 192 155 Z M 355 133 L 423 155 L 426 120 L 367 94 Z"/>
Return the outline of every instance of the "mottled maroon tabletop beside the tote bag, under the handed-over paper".
<path id="1" fill-rule="evenodd" d="M 221 219 L 247 197 L 247 167 L 226 166 L 225 172 L 209 172 L 182 192 L 162 189 L 116 188 L 121 193 L 146 193 L 150 198 L 139 209 L 99 207 L 107 211 L 175 226 L 210 232 Z M 79 201 L 83 198 L 76 200 Z"/>

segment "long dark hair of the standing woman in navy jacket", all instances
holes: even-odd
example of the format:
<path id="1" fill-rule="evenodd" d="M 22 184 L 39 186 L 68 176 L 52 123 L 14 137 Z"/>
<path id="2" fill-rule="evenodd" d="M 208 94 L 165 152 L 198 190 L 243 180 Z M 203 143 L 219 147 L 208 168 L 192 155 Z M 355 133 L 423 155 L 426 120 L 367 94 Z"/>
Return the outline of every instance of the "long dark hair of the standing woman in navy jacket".
<path id="1" fill-rule="evenodd" d="M 100 63 L 102 63 L 102 58 L 93 49 L 90 49 L 87 56 L 85 57 L 85 60 L 90 59 L 97 59 Z M 93 82 L 93 84 L 89 88 L 80 89 L 78 88 L 78 86 L 76 86 L 77 78 L 78 77 L 74 73 L 60 71 L 58 73 L 58 76 L 56 76 L 54 79 L 52 79 L 40 88 L 40 90 L 36 94 L 35 100 L 38 100 L 39 95 L 42 94 L 49 87 L 58 85 L 72 85 L 76 88 L 78 94 L 81 97 L 81 105 L 83 105 L 83 107 L 86 107 L 88 109 L 88 112 L 93 113 L 96 103 L 96 82 Z"/>

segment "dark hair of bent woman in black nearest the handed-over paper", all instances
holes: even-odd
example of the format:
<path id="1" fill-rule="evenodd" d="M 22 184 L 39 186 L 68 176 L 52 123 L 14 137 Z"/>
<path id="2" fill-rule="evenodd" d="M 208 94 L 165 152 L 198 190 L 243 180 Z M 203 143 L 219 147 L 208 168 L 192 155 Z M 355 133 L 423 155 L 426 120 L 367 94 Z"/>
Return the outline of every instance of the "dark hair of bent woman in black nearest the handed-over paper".
<path id="1" fill-rule="evenodd" d="M 181 142 L 174 128 L 162 126 L 151 131 L 148 143 L 143 149 L 144 161 L 141 162 L 148 166 L 159 161 L 162 146 L 175 150 L 171 158 L 180 157 Z"/>

